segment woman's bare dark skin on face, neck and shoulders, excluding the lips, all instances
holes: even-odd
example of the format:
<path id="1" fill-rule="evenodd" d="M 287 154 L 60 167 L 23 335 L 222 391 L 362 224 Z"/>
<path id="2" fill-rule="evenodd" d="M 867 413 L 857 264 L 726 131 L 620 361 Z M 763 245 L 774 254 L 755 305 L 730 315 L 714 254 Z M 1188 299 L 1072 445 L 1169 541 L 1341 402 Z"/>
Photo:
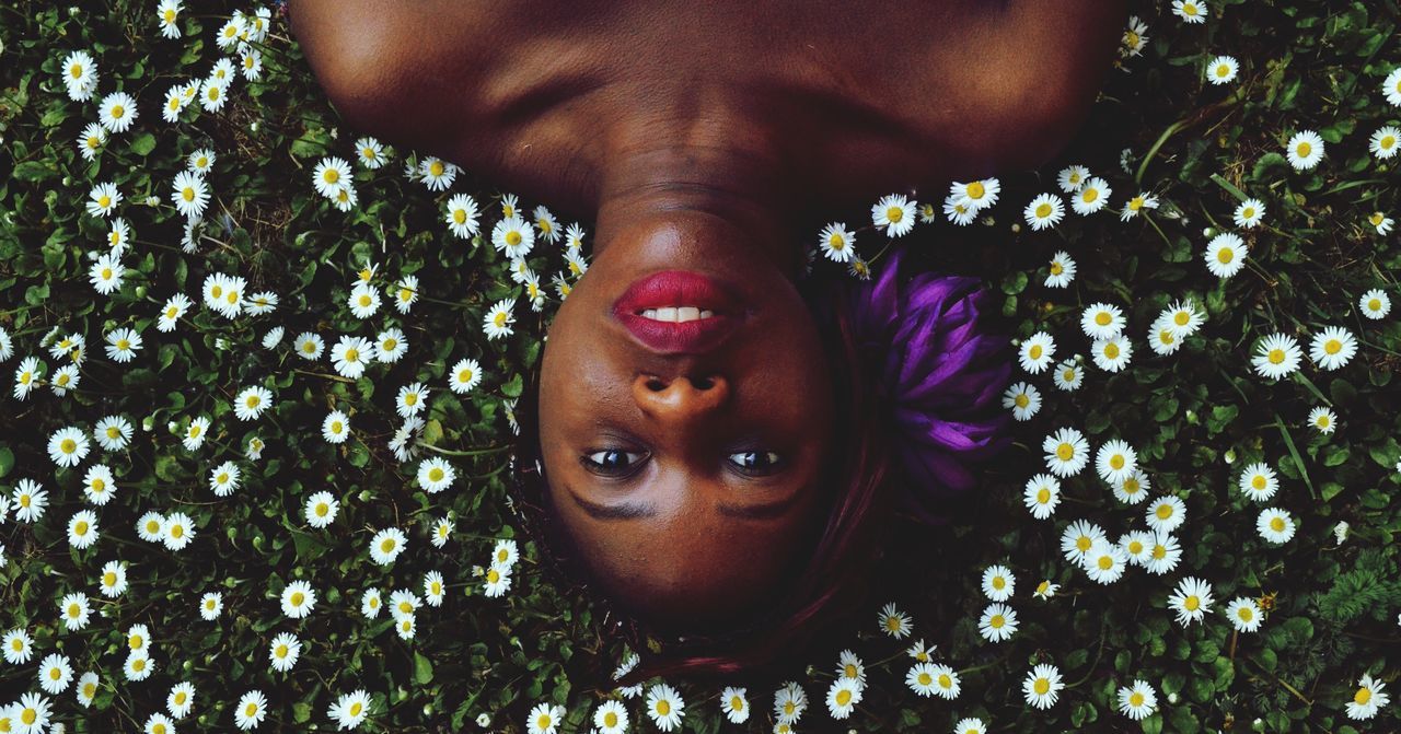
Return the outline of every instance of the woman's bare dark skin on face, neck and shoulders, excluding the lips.
<path id="1" fill-rule="evenodd" d="M 597 223 L 542 363 L 551 500 L 605 591 L 675 629 L 779 593 L 829 500 L 831 375 L 792 284 L 811 223 L 1042 162 L 1126 20 L 1121 0 L 290 10 L 356 129 Z M 743 326 L 702 353 L 632 338 L 612 307 L 661 270 L 741 294 Z"/>

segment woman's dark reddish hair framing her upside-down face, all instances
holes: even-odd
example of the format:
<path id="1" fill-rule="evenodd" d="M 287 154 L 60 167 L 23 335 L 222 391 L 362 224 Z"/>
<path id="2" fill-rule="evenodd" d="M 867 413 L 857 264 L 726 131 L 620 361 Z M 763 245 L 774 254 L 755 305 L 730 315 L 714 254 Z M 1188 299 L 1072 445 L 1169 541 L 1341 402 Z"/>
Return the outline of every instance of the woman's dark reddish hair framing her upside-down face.
<path id="1" fill-rule="evenodd" d="M 813 289 L 808 289 L 813 290 Z M 642 654 L 637 668 L 625 682 L 658 675 L 731 677 L 738 671 L 762 674 L 785 653 L 803 647 L 828 623 L 841 619 L 863 597 L 863 573 L 873 552 L 873 527 L 891 507 L 890 493 L 881 492 L 890 466 L 890 420 L 880 415 L 880 381 L 863 367 L 843 289 L 827 290 L 825 300 L 813 301 L 835 389 L 834 445 L 845 451 L 832 457 L 835 480 L 825 489 L 827 521 L 814 534 L 807 559 L 797 579 L 776 597 L 782 600 L 750 625 L 723 636 L 688 636 L 665 640 L 660 653 Z M 544 462 L 539 459 L 538 374 L 530 381 L 516 410 L 521 426 L 513 455 L 514 501 L 525 520 L 527 532 L 545 549 L 545 566 L 565 584 L 587 577 L 567 532 L 556 527 L 546 490 Z M 583 591 L 608 618 L 616 618 L 629 646 L 643 653 L 654 639 L 644 625 L 621 612 L 588 584 Z"/>

